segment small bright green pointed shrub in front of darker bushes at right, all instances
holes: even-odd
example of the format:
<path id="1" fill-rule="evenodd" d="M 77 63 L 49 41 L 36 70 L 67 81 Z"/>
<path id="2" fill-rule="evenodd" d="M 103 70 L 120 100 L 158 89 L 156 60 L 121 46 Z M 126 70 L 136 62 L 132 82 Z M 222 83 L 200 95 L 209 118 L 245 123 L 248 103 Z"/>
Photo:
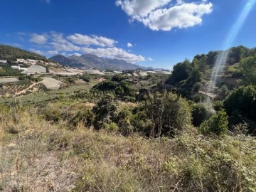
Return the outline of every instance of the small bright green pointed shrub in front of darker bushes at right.
<path id="1" fill-rule="evenodd" d="M 216 134 L 223 136 L 228 131 L 228 115 L 224 110 L 210 117 L 206 122 L 201 124 L 201 132 L 203 134 Z"/>

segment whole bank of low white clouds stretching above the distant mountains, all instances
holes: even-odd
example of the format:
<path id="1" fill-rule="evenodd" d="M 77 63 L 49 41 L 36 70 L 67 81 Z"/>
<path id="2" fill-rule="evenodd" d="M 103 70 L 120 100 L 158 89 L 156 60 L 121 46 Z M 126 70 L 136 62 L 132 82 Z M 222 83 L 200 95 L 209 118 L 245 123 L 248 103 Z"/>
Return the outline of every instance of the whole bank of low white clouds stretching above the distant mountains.
<path id="1" fill-rule="evenodd" d="M 31 49 L 34 53 L 41 55 L 78 55 L 90 53 L 103 58 L 116 58 L 126 60 L 129 63 L 137 63 L 146 60 L 142 55 L 129 53 L 131 50 L 124 50 L 115 46 L 117 41 L 112 38 L 96 35 L 82 35 L 74 33 L 65 36 L 63 33 L 51 31 L 43 35 L 33 33 L 31 42 L 41 46 L 44 50 Z M 131 48 L 132 43 L 127 43 Z"/>

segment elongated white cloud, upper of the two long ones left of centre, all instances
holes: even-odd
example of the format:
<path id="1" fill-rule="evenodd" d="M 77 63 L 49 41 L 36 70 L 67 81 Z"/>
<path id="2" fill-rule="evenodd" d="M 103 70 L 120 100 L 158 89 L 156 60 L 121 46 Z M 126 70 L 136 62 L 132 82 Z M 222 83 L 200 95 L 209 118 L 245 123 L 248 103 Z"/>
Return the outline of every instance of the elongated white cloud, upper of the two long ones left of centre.
<path id="1" fill-rule="evenodd" d="M 114 44 L 117 43 L 117 41 L 114 41 L 111 38 L 105 38 L 102 36 L 87 36 L 79 33 L 68 36 L 68 40 L 81 46 L 114 47 Z"/>

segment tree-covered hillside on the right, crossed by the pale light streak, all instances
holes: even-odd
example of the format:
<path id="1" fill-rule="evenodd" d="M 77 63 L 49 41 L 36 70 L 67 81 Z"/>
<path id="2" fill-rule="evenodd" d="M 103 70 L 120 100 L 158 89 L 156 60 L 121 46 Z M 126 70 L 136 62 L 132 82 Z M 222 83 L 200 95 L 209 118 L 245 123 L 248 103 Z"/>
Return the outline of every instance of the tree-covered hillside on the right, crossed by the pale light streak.
<path id="1" fill-rule="evenodd" d="M 215 67 L 215 63 L 218 60 L 218 55 L 224 51 L 228 52 L 228 55 L 225 63 L 220 63 L 219 70 Z M 198 54 L 194 56 L 192 61 L 186 59 L 174 65 L 172 75 L 166 80 L 166 84 L 176 87 L 186 97 L 199 97 L 201 95 L 198 96 L 198 92 L 211 98 L 224 97 L 224 89 L 229 91 L 241 85 L 247 85 L 248 76 L 252 76 L 250 82 L 254 82 L 255 64 L 253 64 L 253 58 L 255 57 L 256 48 L 244 46 Z M 215 82 L 212 82 L 211 75 L 217 70 L 219 70 L 218 75 L 216 75 L 217 78 Z M 246 73 L 249 70 L 251 74 Z"/>

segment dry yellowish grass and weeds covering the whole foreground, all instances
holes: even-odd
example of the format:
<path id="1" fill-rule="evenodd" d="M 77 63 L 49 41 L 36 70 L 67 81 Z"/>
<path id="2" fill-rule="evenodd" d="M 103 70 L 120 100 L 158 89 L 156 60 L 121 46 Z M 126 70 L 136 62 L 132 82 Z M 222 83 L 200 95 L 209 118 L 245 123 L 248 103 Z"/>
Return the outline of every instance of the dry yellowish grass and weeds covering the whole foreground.
<path id="1" fill-rule="evenodd" d="M 1 108 L 0 191 L 253 191 L 256 142 L 122 137 L 67 122 L 50 124 L 31 107 Z"/>

